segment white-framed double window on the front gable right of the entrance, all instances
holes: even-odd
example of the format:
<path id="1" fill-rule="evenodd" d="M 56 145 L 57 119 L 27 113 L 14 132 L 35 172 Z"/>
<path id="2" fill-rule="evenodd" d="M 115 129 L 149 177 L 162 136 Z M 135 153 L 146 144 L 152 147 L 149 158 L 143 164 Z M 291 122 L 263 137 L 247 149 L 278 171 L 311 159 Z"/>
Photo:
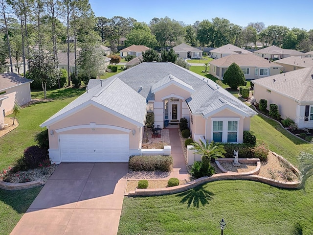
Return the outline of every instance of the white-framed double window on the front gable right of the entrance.
<path id="1" fill-rule="evenodd" d="M 240 118 L 212 118 L 212 140 L 215 142 L 238 142 Z"/>

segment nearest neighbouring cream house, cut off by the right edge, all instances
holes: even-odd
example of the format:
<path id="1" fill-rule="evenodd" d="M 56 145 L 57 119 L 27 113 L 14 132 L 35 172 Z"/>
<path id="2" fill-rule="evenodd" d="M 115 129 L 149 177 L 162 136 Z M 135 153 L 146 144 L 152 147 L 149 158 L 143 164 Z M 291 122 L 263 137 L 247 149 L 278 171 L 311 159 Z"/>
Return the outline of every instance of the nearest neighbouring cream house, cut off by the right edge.
<path id="1" fill-rule="evenodd" d="M 299 128 L 313 128 L 313 67 L 252 81 L 254 98 L 277 104 L 281 118 L 291 118 Z"/>

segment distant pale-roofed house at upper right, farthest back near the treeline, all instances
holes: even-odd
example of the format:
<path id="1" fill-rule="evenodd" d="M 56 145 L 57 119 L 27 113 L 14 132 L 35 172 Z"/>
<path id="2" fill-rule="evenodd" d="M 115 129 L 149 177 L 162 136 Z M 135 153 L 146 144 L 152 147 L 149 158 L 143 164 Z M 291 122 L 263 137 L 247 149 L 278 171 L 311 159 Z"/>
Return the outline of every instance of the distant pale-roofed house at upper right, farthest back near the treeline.
<path id="1" fill-rule="evenodd" d="M 268 60 L 279 60 L 289 56 L 305 56 L 303 52 L 293 50 L 293 49 L 282 49 L 276 46 L 266 47 L 260 50 L 253 51 L 257 56 L 260 56 Z"/>

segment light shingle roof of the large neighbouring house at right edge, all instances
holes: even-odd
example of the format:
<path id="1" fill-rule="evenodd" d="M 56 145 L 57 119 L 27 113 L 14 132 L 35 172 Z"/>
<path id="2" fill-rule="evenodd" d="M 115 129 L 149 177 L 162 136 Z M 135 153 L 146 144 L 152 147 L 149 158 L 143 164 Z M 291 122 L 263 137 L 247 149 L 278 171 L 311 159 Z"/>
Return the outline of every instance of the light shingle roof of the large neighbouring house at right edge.
<path id="1" fill-rule="evenodd" d="M 313 101 L 313 67 L 259 78 L 252 82 L 297 101 Z"/>

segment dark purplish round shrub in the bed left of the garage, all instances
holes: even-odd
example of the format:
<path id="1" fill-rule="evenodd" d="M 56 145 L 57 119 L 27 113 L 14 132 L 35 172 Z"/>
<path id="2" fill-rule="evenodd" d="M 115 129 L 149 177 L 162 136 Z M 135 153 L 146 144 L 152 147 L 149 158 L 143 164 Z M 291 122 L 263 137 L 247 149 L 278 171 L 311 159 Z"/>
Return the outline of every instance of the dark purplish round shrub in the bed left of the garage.
<path id="1" fill-rule="evenodd" d="M 24 164 L 28 169 L 36 168 L 39 164 L 49 161 L 46 149 L 37 145 L 25 148 L 23 158 Z"/>

